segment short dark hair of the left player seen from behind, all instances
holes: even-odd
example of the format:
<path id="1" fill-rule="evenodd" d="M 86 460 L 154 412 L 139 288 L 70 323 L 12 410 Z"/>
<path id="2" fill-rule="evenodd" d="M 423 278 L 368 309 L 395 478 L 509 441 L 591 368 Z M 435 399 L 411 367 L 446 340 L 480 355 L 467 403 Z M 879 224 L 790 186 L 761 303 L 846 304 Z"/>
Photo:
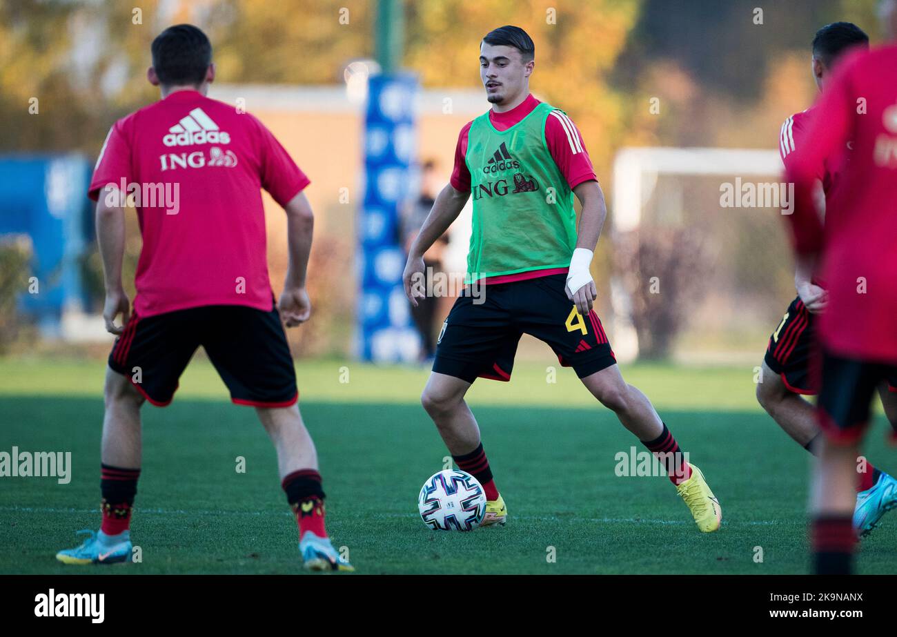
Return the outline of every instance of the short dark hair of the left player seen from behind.
<path id="1" fill-rule="evenodd" d="M 210 64 L 212 43 L 192 24 L 176 24 L 152 40 L 152 67 L 166 86 L 198 86 Z"/>

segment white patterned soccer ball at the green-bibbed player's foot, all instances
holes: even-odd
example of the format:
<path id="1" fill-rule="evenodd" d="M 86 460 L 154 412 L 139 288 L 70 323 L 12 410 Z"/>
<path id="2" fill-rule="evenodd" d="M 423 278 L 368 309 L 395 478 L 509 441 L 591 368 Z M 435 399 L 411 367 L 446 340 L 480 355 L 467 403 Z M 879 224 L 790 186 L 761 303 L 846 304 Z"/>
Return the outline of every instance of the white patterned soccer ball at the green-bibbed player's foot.
<path id="1" fill-rule="evenodd" d="M 434 531 L 472 531 L 486 514 L 486 494 L 474 476 L 446 469 L 423 483 L 417 509 L 423 523 Z"/>

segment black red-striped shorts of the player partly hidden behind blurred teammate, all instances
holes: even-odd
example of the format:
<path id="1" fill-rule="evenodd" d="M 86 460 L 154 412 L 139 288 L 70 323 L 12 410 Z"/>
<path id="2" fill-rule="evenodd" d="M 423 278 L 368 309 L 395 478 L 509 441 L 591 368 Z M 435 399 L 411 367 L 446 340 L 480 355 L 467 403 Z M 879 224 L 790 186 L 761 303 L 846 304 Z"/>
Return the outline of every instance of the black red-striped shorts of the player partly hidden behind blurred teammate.
<path id="1" fill-rule="evenodd" d="M 813 369 L 811 362 L 818 362 L 815 352 L 815 316 L 804 306 L 798 296 L 791 304 L 779 327 L 770 336 L 763 361 L 779 374 L 785 387 L 796 394 L 815 395 L 818 393 L 819 370 Z M 897 374 L 885 379 L 888 389 L 897 392 Z"/>

